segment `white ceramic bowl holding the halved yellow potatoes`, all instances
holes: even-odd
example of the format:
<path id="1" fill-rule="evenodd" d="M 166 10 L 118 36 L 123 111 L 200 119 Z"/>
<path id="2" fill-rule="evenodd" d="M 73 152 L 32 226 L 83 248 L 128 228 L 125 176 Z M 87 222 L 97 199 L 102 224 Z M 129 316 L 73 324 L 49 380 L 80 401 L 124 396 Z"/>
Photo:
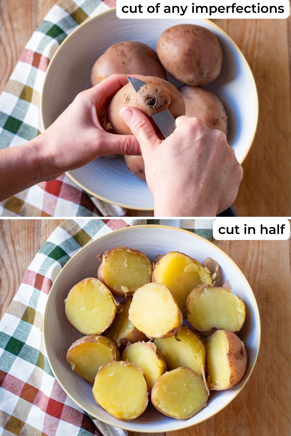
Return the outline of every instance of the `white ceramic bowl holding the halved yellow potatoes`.
<path id="1" fill-rule="evenodd" d="M 157 412 L 151 405 L 137 419 L 122 421 L 116 419 L 99 407 L 93 399 L 92 388 L 72 371 L 66 362 L 66 352 L 71 344 L 82 334 L 79 333 L 65 316 L 64 300 L 69 290 L 86 277 L 97 277 L 100 264 L 99 253 L 104 253 L 118 245 L 125 245 L 144 252 L 150 259 L 157 253 L 171 250 L 185 252 L 202 262 L 207 256 L 219 262 L 224 279 L 229 279 L 233 292 L 246 305 L 246 322 L 240 332 L 248 362 L 242 380 L 226 391 L 211 391 L 204 409 L 187 420 L 169 418 Z M 43 334 L 48 361 L 55 377 L 65 392 L 83 410 L 107 424 L 143 433 L 159 433 L 184 429 L 215 415 L 231 402 L 250 377 L 257 360 L 260 346 L 260 315 L 257 302 L 245 276 L 221 249 L 194 233 L 162 225 L 144 225 L 116 230 L 90 242 L 80 249 L 66 263 L 58 274 L 48 296 L 43 320 Z"/>

